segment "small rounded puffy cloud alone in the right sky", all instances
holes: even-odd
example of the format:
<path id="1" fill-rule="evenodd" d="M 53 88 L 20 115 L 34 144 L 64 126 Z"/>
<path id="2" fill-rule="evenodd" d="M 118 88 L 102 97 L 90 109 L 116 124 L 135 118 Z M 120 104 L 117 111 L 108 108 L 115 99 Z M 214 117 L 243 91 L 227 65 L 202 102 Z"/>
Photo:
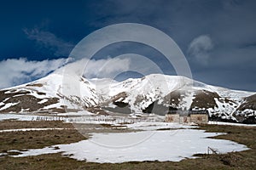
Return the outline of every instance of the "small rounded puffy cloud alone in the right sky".
<path id="1" fill-rule="evenodd" d="M 201 65 L 207 65 L 210 57 L 209 51 L 213 48 L 212 39 L 207 35 L 196 37 L 189 44 L 188 52 L 195 57 Z"/>

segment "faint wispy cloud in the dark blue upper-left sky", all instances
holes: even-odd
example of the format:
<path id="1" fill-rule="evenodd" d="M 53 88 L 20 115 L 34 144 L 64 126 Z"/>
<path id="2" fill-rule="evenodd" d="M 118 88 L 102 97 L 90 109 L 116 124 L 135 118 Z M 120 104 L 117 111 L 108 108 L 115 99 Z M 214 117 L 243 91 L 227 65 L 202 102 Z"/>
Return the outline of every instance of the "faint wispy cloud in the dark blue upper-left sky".
<path id="1" fill-rule="evenodd" d="M 53 51 L 55 56 L 67 56 L 74 47 L 73 43 L 66 42 L 49 31 L 41 31 L 38 28 L 24 29 L 23 31 L 29 39 L 35 40 L 44 48 Z"/>

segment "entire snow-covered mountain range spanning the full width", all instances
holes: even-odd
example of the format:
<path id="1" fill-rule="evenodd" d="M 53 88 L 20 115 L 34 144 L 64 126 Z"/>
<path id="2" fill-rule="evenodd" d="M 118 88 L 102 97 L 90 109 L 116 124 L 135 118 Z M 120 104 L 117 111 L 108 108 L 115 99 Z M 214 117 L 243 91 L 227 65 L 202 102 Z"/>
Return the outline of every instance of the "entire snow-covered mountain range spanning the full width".
<path id="1" fill-rule="evenodd" d="M 210 119 L 256 123 L 256 94 L 152 74 L 123 82 L 87 80 L 55 71 L 47 77 L 0 90 L 0 112 L 58 113 L 86 109 L 108 114 L 207 110 Z"/>

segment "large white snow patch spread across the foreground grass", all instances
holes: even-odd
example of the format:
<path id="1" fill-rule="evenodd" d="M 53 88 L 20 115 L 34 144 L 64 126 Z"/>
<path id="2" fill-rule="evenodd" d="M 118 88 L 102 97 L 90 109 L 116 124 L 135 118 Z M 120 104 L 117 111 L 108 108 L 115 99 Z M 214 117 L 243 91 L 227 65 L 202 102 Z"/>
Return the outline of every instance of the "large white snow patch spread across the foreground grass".
<path id="1" fill-rule="evenodd" d="M 20 155 L 14 157 L 62 152 L 63 156 L 79 161 L 120 163 L 155 160 L 181 161 L 187 157 L 194 158 L 193 155 L 196 153 L 207 153 L 207 147 L 218 149 L 221 153 L 248 150 L 243 144 L 208 138 L 218 134 L 220 133 L 204 133 L 202 130 L 194 129 L 179 129 L 174 134 L 170 131 L 94 133 L 88 140 L 73 144 L 53 145 L 44 149 L 21 151 Z M 143 139 L 148 136 L 148 139 Z M 132 142 L 137 141 L 139 137 L 142 137 L 143 140 L 133 144 Z"/>

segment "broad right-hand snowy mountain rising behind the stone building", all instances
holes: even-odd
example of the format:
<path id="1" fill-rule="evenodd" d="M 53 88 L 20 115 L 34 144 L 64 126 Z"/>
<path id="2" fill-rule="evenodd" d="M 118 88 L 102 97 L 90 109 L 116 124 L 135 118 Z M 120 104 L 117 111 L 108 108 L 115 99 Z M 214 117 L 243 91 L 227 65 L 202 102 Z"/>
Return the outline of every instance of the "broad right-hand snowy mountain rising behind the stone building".
<path id="1" fill-rule="evenodd" d="M 207 109 L 210 114 L 218 113 L 223 118 L 233 120 L 236 118 L 231 115 L 246 97 L 254 94 L 214 87 L 186 77 L 159 74 L 108 83 L 103 88 L 96 88 L 97 94 L 102 96 L 102 106 L 105 107 L 121 105 L 128 107 L 131 112 L 143 112 L 156 102 L 157 105 L 172 106 L 182 111 Z"/>

